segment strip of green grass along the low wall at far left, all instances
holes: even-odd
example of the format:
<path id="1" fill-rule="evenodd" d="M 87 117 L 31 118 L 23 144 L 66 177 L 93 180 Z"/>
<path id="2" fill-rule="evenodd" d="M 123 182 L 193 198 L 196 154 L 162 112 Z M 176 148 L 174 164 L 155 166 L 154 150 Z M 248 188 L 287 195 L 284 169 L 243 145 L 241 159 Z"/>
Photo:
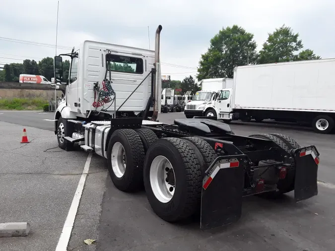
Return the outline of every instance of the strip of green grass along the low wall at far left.
<path id="1" fill-rule="evenodd" d="M 43 98 L 0 99 L 0 110 L 43 110 L 48 100 Z"/>

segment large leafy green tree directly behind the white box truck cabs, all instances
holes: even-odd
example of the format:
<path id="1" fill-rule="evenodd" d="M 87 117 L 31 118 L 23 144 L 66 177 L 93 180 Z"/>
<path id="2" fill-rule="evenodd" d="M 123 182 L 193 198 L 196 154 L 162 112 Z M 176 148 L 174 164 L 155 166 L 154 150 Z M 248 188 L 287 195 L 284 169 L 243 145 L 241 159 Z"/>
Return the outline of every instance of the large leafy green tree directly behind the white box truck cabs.
<path id="1" fill-rule="evenodd" d="M 197 78 L 233 77 L 235 66 L 257 62 L 254 35 L 240 26 L 222 28 L 211 40 L 209 49 L 201 55 Z"/>

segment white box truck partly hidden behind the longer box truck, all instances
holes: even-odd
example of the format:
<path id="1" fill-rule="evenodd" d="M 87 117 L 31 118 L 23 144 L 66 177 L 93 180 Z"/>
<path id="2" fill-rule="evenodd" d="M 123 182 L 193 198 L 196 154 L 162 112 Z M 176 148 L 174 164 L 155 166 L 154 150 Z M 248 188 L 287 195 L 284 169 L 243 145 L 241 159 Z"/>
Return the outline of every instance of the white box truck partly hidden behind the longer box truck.
<path id="1" fill-rule="evenodd" d="M 232 78 L 208 78 L 200 81 L 201 91 L 196 92 L 193 100 L 185 106 L 184 114 L 186 118 L 192 119 L 194 116 L 203 116 L 205 105 L 213 101 L 214 93 L 224 88 L 233 87 Z"/>

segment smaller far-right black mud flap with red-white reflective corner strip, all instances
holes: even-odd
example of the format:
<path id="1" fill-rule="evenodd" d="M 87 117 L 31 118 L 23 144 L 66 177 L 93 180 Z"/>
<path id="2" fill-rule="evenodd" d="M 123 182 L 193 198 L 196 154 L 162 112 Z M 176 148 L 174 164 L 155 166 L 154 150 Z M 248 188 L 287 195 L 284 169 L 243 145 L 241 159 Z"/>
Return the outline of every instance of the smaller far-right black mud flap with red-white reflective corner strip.
<path id="1" fill-rule="evenodd" d="M 319 152 L 315 146 L 294 149 L 295 181 L 294 199 L 296 202 L 318 194 Z"/>

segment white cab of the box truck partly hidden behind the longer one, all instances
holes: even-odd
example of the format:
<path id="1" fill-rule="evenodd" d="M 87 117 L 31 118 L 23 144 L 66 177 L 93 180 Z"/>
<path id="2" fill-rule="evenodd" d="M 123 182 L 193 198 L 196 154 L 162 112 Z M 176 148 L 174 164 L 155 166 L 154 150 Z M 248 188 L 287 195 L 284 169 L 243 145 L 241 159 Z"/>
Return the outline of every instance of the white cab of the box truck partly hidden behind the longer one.
<path id="1" fill-rule="evenodd" d="M 188 102 L 184 109 L 184 114 L 186 118 L 192 119 L 194 116 L 203 116 L 205 111 L 205 106 L 208 103 L 211 103 L 214 97 L 214 93 L 212 91 L 198 91 L 193 96 L 191 102 Z"/>

